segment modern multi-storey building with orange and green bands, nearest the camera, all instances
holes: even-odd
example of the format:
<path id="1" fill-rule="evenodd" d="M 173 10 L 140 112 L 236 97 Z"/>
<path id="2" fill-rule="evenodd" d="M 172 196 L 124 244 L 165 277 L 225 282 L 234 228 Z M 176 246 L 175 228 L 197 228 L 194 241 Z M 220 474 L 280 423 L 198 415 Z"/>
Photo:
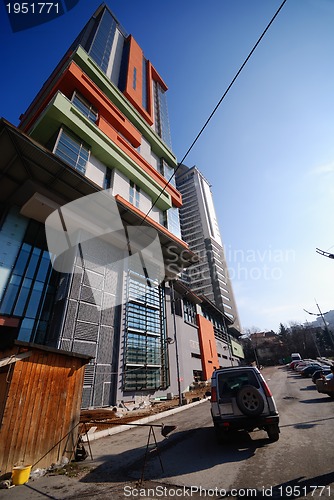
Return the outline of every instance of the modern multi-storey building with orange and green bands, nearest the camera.
<path id="1" fill-rule="evenodd" d="M 166 91 L 104 4 L 19 127 L 0 122 L 0 344 L 90 356 L 83 407 L 183 391 L 210 378 L 218 351 L 242 357 L 228 337 L 215 345 L 202 299 L 170 285 L 198 257 L 181 239 L 181 194 L 166 185 L 177 165 Z M 133 229 L 157 235 L 162 277 L 155 252 L 133 248 Z"/>

